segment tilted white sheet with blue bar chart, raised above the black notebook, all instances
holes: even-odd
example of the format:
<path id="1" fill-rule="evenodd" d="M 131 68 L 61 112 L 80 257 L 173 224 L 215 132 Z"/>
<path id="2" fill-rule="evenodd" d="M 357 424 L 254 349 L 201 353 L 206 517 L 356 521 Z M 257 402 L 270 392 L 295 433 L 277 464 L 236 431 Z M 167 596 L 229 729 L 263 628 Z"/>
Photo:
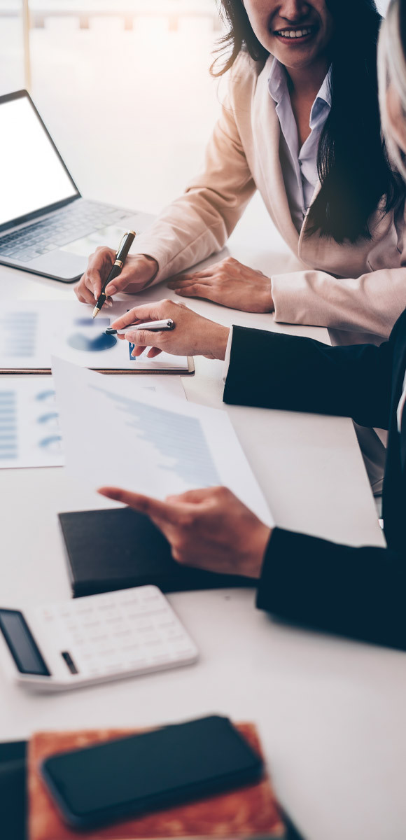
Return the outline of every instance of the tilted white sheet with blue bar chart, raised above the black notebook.
<path id="1" fill-rule="evenodd" d="M 147 391 L 53 359 L 66 465 L 97 489 L 163 499 L 224 485 L 267 524 L 272 517 L 226 412 Z"/>

